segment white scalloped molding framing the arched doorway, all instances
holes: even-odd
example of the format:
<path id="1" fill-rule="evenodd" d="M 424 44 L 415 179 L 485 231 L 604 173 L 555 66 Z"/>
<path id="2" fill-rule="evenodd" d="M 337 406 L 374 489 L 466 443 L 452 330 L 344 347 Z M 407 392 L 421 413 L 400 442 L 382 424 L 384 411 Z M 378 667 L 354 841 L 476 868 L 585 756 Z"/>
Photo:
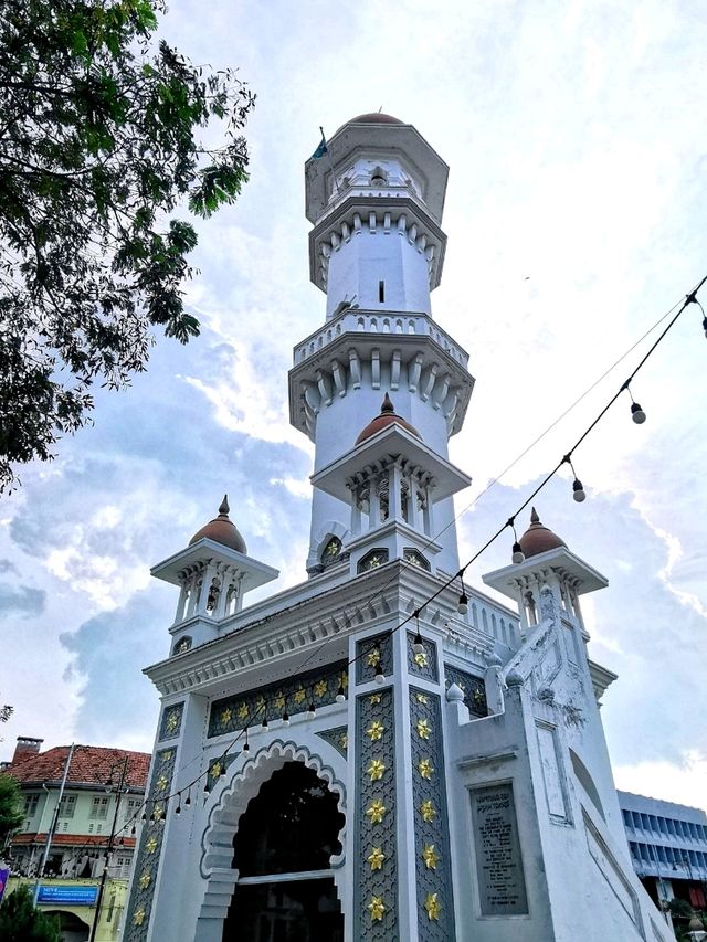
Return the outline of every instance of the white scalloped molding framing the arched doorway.
<path id="1" fill-rule="evenodd" d="M 225 919 L 231 897 L 238 882 L 238 870 L 231 869 L 233 838 L 239 829 L 241 815 L 261 785 L 287 762 L 303 762 L 313 769 L 338 795 L 337 807 L 344 815 L 344 826 L 338 834 L 341 853 L 331 857 L 331 869 L 339 899 L 344 899 L 344 861 L 346 859 L 346 786 L 321 756 L 307 747 L 292 740 L 276 739 L 249 759 L 241 771 L 225 785 L 211 808 L 207 827 L 201 838 L 199 871 L 207 880 L 207 890 L 201 904 L 200 920 Z M 221 938 L 221 936 L 219 936 Z"/>

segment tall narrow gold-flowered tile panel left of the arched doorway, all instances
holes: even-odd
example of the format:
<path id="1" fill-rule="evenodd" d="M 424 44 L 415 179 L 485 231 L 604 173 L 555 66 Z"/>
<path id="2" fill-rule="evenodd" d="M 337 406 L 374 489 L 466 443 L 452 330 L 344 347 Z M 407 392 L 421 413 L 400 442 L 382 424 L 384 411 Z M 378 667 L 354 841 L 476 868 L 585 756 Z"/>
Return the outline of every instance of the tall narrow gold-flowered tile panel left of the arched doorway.
<path id="1" fill-rule="evenodd" d="M 143 825 L 140 835 L 123 942 L 144 942 L 147 939 L 165 837 L 166 798 L 171 791 L 176 764 L 176 749 L 162 749 L 157 752 L 146 796 L 148 819 Z"/>

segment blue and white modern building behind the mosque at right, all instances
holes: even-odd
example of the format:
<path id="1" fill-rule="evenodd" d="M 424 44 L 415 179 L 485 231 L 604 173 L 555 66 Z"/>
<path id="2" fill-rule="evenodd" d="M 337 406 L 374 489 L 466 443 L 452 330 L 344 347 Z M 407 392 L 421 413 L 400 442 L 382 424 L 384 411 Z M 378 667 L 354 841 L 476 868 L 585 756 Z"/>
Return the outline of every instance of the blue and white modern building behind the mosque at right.
<path id="1" fill-rule="evenodd" d="M 707 814 L 619 792 L 633 867 L 653 900 L 674 897 L 707 908 Z"/>

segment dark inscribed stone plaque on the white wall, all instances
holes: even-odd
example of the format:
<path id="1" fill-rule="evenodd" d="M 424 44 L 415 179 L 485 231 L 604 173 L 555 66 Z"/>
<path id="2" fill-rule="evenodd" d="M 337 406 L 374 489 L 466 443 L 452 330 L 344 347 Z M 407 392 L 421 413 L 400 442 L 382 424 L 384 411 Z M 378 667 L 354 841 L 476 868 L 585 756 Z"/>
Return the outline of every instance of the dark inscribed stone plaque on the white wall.
<path id="1" fill-rule="evenodd" d="M 472 817 L 482 915 L 527 914 L 513 785 L 474 788 Z"/>

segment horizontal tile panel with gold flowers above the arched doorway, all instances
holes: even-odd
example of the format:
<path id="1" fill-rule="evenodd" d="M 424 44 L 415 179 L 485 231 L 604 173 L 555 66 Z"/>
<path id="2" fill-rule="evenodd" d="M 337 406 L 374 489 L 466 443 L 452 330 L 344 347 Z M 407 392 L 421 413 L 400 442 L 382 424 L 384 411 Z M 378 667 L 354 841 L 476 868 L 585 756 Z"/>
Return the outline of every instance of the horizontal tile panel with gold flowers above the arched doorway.
<path id="1" fill-rule="evenodd" d="M 348 682 L 348 661 L 339 660 L 277 684 L 214 700 L 209 715 L 208 734 L 214 737 L 235 732 L 246 726 L 262 723 L 265 717 L 268 721 L 278 720 L 285 710 L 291 717 L 304 713 L 309 703 L 317 708 L 328 707 L 336 702 L 340 686 L 346 694 Z"/>

